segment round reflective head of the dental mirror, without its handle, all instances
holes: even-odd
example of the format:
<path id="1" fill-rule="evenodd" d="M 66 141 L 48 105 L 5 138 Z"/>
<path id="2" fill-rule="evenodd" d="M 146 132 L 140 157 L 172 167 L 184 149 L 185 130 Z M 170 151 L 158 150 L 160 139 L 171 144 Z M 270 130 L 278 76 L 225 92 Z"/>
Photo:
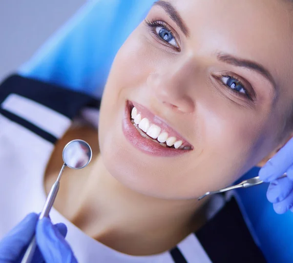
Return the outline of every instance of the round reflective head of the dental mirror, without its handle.
<path id="1" fill-rule="evenodd" d="M 67 143 L 62 153 L 63 161 L 71 169 L 83 169 L 92 158 L 92 150 L 87 142 L 73 140 Z"/>

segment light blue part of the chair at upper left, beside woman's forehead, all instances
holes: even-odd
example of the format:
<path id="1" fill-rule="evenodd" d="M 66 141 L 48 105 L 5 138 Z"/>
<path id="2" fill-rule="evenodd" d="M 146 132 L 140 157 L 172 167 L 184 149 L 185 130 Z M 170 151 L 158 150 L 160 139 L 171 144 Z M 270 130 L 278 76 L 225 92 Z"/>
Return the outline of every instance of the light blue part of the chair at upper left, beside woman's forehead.
<path id="1" fill-rule="evenodd" d="M 154 0 L 91 0 L 19 70 L 101 95 L 115 54 Z"/>

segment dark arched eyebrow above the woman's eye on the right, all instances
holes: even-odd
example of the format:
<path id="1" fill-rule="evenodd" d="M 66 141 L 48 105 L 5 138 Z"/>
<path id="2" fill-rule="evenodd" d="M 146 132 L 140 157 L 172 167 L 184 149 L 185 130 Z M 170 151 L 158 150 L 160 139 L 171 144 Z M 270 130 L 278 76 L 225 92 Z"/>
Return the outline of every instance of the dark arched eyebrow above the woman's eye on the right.
<path id="1" fill-rule="evenodd" d="M 225 53 L 218 53 L 217 58 L 218 58 L 219 61 L 222 61 L 224 63 L 228 63 L 230 65 L 234 65 L 234 66 L 237 66 L 237 67 L 248 68 L 248 69 L 251 69 L 253 71 L 256 71 L 256 72 L 260 73 L 261 75 L 266 77 L 272 83 L 272 86 L 273 86 L 274 90 L 276 91 L 277 85 L 276 85 L 276 82 L 274 81 L 274 79 L 272 77 L 272 74 L 270 73 L 270 71 L 268 71 L 261 64 L 256 63 L 256 62 L 251 61 L 251 60 L 231 56 L 231 55 L 225 54 Z"/>

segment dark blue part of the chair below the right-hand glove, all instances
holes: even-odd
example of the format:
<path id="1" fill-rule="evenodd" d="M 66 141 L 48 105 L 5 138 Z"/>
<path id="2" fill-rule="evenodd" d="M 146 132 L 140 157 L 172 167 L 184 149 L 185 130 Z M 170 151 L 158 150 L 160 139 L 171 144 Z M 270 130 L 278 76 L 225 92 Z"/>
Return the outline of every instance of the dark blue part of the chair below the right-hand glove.
<path id="1" fill-rule="evenodd" d="M 258 175 L 259 168 L 253 168 L 241 180 Z M 238 182 L 240 182 L 239 180 Z M 236 183 L 238 183 L 236 182 Z M 278 215 L 266 197 L 268 184 L 238 189 L 236 199 L 255 241 L 270 263 L 293 262 L 293 213 Z"/>

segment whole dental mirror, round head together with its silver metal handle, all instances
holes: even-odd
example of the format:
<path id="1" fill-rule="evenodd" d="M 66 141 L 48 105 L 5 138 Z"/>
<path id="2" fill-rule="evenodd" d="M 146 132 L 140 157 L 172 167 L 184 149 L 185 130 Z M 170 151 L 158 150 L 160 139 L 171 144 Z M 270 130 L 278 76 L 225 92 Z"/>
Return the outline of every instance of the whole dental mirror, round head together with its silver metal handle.
<path id="1" fill-rule="evenodd" d="M 44 207 L 42 209 L 41 215 L 39 216 L 39 220 L 49 215 L 49 212 L 57 196 L 60 186 L 60 179 L 62 177 L 65 167 L 68 166 L 71 169 L 82 169 L 86 167 L 91 161 L 92 150 L 87 142 L 83 140 L 73 140 L 65 145 L 62 152 L 62 157 L 64 164 L 60 170 L 56 182 L 51 187 L 51 190 L 47 196 Z M 21 263 L 30 263 L 32 261 L 34 252 L 36 250 L 36 246 L 37 243 L 36 238 L 34 236 L 31 243 L 25 251 Z"/>

